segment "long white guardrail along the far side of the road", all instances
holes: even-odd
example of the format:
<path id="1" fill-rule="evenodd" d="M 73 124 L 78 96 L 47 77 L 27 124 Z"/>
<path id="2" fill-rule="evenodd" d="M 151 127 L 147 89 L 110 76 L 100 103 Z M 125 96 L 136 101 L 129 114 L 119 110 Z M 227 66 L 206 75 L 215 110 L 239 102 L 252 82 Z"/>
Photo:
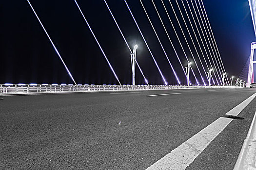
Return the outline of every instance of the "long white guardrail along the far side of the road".
<path id="1" fill-rule="evenodd" d="M 4 85 L 0 85 L 0 94 L 63 93 L 63 92 L 88 92 L 88 91 L 93 92 L 93 91 L 122 91 L 122 90 L 167 90 L 167 89 L 187 89 L 187 88 L 232 88 L 232 87 L 234 88 L 236 86 L 4 84 Z"/>

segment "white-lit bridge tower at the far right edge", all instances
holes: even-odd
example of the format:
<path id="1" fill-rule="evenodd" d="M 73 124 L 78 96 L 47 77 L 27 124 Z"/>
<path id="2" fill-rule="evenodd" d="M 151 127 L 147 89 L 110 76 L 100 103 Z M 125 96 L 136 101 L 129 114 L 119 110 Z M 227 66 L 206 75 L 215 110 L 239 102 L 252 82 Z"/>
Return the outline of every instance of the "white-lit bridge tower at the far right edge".
<path id="1" fill-rule="evenodd" d="M 253 19 L 254 32 L 256 36 L 256 0 L 248 0 L 248 1 L 249 1 L 250 10 L 251 10 L 251 16 Z M 256 63 L 256 61 L 254 61 L 255 49 L 256 49 L 256 42 L 252 42 L 248 78 L 247 78 L 247 87 L 250 87 L 250 84 L 254 83 L 254 64 Z"/>

